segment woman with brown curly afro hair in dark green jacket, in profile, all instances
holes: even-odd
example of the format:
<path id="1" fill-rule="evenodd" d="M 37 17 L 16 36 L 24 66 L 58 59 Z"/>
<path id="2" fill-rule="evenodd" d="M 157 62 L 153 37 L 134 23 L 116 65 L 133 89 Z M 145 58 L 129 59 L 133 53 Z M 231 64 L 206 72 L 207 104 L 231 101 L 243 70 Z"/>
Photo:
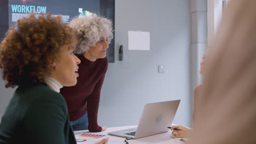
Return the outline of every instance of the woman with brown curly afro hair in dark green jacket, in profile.
<path id="1" fill-rule="evenodd" d="M 61 16 L 30 14 L 9 29 L 0 45 L 0 68 L 5 87 L 18 88 L 2 117 L 0 143 L 76 143 L 59 93 L 77 83 L 75 43 Z"/>

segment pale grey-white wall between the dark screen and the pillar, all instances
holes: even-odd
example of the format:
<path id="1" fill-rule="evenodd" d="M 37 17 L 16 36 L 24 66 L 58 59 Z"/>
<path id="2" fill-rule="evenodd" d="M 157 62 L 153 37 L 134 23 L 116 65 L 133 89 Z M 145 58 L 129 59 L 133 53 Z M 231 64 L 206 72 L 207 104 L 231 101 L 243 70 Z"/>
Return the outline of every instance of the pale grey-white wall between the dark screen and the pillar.
<path id="1" fill-rule="evenodd" d="M 99 123 L 138 124 L 144 104 L 181 99 L 174 123 L 189 126 L 190 5 L 187 0 L 115 1 L 115 48 L 125 62 L 109 63 L 102 88 Z M 150 51 L 128 51 L 127 31 L 149 31 Z M 166 67 L 158 73 L 158 65 Z"/>

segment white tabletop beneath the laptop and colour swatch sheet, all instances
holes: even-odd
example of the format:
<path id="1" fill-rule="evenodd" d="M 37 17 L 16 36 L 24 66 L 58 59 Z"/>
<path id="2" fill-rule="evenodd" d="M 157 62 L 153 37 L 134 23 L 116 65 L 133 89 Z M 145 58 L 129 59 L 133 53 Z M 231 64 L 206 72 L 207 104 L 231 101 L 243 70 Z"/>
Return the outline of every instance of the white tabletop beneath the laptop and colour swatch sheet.
<path id="1" fill-rule="evenodd" d="M 109 144 L 120 144 L 120 143 L 125 143 L 124 137 L 119 137 L 119 136 L 113 136 L 113 135 L 108 135 L 110 131 L 117 131 L 117 130 L 122 130 L 122 129 L 130 129 L 130 128 L 135 128 L 137 125 L 131 125 L 131 126 L 126 126 L 126 127 L 113 127 L 113 128 L 107 128 L 106 131 L 102 131 L 100 133 L 90 133 L 88 130 L 79 130 L 79 131 L 74 131 L 75 134 L 78 133 L 90 133 L 90 134 L 98 134 L 98 135 L 107 135 L 109 137 Z M 147 136 L 147 137 L 142 137 L 140 139 L 136 140 L 129 140 L 129 144 L 146 144 L 146 143 L 162 143 L 162 144 L 171 144 L 171 143 L 184 143 L 182 141 L 179 141 L 177 139 L 172 138 L 172 133 L 171 131 L 168 131 L 167 133 L 162 133 L 162 134 L 157 134 L 157 135 L 152 135 L 152 136 Z"/>

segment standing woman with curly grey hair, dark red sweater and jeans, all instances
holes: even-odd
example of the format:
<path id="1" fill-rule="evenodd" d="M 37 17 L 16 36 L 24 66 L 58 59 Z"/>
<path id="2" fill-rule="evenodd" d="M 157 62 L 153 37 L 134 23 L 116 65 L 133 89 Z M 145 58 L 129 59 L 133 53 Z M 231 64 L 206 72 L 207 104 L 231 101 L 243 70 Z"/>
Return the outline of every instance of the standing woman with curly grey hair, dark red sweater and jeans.
<path id="1" fill-rule="evenodd" d="M 77 32 L 75 54 L 81 59 L 77 85 L 63 87 L 61 94 L 68 106 L 73 130 L 100 132 L 97 123 L 101 87 L 108 68 L 106 50 L 113 39 L 112 21 L 92 14 L 75 17 L 69 25 Z"/>

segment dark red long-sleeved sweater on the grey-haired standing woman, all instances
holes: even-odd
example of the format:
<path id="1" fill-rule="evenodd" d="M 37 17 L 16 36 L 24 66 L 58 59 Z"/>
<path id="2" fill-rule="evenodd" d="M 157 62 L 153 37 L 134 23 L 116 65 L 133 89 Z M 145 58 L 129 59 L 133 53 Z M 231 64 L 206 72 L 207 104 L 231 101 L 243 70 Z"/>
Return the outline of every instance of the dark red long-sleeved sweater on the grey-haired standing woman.
<path id="1" fill-rule="evenodd" d="M 108 68 L 108 59 L 100 58 L 91 62 L 83 55 L 78 55 L 79 77 L 77 85 L 63 87 L 60 93 L 67 102 L 70 121 L 75 121 L 88 112 L 88 129 L 91 132 L 101 131 L 97 123 L 98 105 L 100 103 L 101 87 Z"/>

